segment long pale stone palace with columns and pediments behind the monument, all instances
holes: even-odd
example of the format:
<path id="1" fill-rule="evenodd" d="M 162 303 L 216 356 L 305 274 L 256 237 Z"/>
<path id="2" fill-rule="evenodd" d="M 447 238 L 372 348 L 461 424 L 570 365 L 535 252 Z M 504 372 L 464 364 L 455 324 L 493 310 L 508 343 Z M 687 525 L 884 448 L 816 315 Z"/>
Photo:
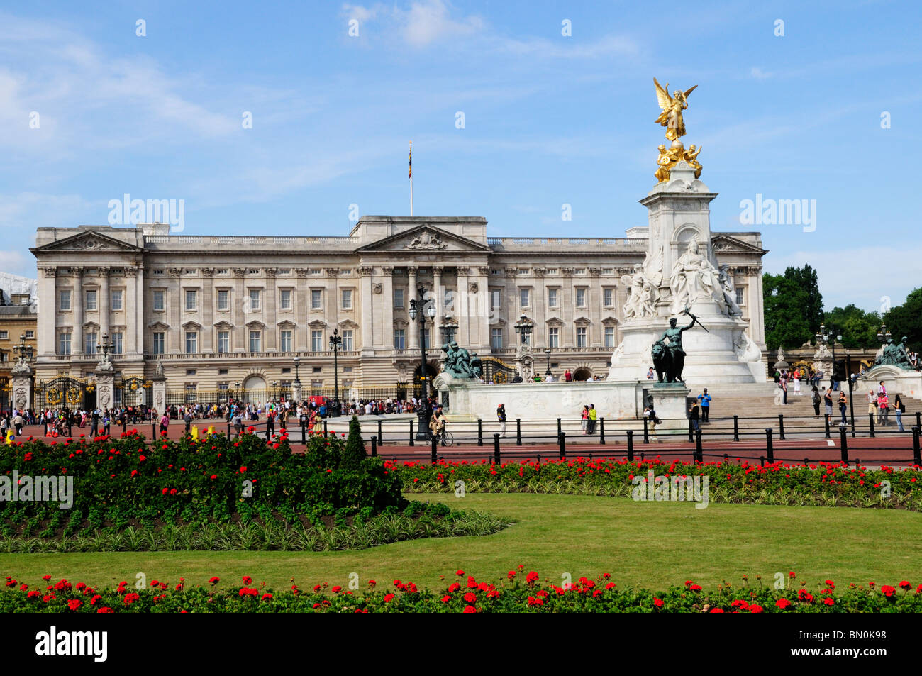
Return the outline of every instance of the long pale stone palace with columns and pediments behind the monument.
<path id="1" fill-rule="evenodd" d="M 335 377 L 341 397 L 407 396 L 419 391 L 420 342 L 432 375 L 446 338 L 491 373 L 514 369 L 526 342 L 539 374 L 547 361 L 555 378 L 604 377 L 626 279 L 647 248 L 645 227 L 626 234 L 490 237 L 486 219 L 467 216 L 366 216 L 342 237 L 39 228 L 36 405 L 58 379 L 92 390 L 105 343 L 115 403 L 131 403 L 129 391 L 145 403 L 160 373 L 171 404 L 286 396 L 296 376 L 304 397 L 331 395 Z M 716 232 L 712 244 L 764 350 L 761 235 Z M 420 288 L 425 310 L 414 321 Z"/>

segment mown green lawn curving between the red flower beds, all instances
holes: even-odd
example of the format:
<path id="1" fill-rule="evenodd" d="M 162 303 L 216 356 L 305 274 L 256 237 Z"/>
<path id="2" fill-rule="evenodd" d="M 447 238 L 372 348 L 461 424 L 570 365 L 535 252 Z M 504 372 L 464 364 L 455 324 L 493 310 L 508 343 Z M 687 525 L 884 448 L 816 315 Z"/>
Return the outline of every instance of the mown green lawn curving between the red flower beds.
<path id="1" fill-rule="evenodd" d="M 419 495 L 453 507 L 482 509 L 516 523 L 481 538 L 411 540 L 373 550 L 344 552 L 162 552 L 3 554 L 0 575 L 34 584 L 41 575 L 100 586 L 148 582 L 205 584 L 211 575 L 239 583 L 242 575 L 270 587 L 317 582 L 346 585 L 358 573 L 389 585 L 399 577 L 440 587 L 457 568 L 496 579 L 519 563 L 542 576 L 595 577 L 609 572 L 623 586 L 668 587 L 693 579 L 702 585 L 738 582 L 748 574 L 771 584 L 774 574 L 796 571 L 809 584 L 922 583 L 922 515 L 845 507 L 781 507 L 689 503 L 634 503 L 576 495 Z"/>

